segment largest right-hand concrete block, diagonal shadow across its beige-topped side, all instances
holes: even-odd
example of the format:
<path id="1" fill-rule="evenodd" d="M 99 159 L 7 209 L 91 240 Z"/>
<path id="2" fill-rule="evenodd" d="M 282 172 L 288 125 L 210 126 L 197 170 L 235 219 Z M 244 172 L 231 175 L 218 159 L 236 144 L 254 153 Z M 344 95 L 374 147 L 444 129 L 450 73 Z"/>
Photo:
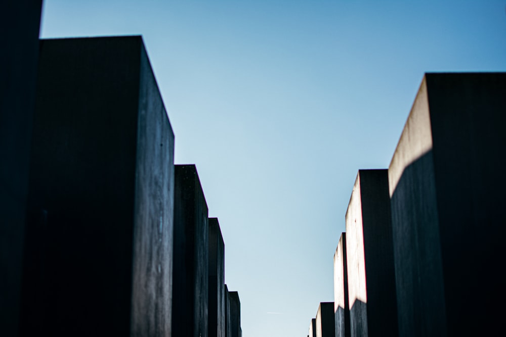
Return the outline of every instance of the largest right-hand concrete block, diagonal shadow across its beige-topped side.
<path id="1" fill-rule="evenodd" d="M 401 336 L 502 329 L 506 73 L 426 74 L 389 167 Z"/>

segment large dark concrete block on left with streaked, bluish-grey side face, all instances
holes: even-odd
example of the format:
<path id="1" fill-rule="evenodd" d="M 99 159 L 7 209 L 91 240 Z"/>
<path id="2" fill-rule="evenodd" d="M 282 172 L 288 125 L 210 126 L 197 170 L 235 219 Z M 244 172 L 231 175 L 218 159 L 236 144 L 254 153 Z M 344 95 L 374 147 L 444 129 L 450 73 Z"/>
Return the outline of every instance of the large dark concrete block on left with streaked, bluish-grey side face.
<path id="1" fill-rule="evenodd" d="M 142 38 L 39 53 L 22 333 L 170 334 L 174 133 Z"/>

